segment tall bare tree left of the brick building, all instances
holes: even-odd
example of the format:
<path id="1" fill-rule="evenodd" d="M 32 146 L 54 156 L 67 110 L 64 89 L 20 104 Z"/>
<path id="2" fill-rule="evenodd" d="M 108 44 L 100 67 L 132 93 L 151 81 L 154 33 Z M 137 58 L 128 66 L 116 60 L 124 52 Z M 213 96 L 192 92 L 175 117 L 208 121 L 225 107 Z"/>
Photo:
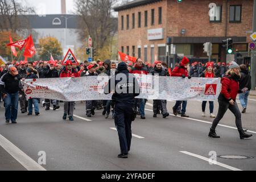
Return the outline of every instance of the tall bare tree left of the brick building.
<path id="1" fill-rule="evenodd" d="M 76 13 L 80 15 L 80 38 L 90 35 L 94 47 L 101 49 L 117 31 L 117 20 L 112 18 L 117 0 L 76 0 Z"/>

